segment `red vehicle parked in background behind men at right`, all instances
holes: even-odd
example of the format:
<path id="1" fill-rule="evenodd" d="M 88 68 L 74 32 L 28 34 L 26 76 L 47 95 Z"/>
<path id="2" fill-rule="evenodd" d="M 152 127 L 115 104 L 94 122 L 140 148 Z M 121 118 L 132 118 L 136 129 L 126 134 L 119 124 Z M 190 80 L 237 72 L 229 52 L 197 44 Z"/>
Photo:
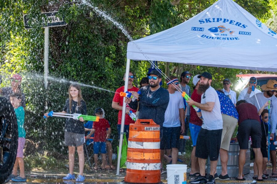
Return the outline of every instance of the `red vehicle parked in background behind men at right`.
<path id="1" fill-rule="evenodd" d="M 257 78 L 258 89 L 259 86 L 266 84 L 269 79 L 277 80 L 277 75 L 274 74 L 240 74 L 236 76 L 239 77 L 239 81 L 235 86 L 235 90 L 239 92 L 248 87 L 248 82 L 251 77 Z"/>

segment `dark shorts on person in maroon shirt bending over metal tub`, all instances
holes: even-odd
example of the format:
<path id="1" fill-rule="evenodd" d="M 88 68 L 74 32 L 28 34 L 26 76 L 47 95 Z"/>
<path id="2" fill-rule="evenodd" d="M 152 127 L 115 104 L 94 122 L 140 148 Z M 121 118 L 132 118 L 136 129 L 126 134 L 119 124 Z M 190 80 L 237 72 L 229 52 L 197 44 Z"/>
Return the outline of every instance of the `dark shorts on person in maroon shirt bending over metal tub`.
<path id="1" fill-rule="evenodd" d="M 249 136 L 252 140 L 252 148 L 261 148 L 262 129 L 257 120 L 244 120 L 239 124 L 238 142 L 239 149 L 248 149 Z"/>

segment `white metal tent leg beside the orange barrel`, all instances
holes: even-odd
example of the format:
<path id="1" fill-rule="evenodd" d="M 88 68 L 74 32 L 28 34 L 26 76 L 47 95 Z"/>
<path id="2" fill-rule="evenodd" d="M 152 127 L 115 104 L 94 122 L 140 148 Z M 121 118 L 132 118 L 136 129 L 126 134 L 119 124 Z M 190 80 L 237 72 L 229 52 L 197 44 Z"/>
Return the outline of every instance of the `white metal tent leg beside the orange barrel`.
<path id="1" fill-rule="evenodd" d="M 124 91 L 128 90 L 129 70 L 130 70 L 130 59 L 127 59 Z M 122 117 L 121 117 L 119 148 L 118 148 L 118 155 L 117 155 L 116 175 L 120 175 L 119 169 L 120 169 L 120 159 L 121 159 L 122 141 L 123 141 L 123 133 L 124 133 L 125 113 L 126 113 L 126 108 L 124 107 L 126 107 L 125 98 L 123 98 L 123 105 L 122 105 Z"/>

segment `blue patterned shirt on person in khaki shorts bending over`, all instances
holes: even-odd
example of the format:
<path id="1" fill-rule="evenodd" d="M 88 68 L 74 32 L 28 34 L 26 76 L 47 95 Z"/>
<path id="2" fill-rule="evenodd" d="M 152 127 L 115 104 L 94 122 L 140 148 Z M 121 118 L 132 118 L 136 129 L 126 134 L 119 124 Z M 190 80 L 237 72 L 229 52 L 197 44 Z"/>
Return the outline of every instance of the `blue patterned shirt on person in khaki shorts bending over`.
<path id="1" fill-rule="evenodd" d="M 218 90 L 216 90 L 216 93 L 218 94 L 221 113 L 239 119 L 238 111 L 231 99 Z"/>

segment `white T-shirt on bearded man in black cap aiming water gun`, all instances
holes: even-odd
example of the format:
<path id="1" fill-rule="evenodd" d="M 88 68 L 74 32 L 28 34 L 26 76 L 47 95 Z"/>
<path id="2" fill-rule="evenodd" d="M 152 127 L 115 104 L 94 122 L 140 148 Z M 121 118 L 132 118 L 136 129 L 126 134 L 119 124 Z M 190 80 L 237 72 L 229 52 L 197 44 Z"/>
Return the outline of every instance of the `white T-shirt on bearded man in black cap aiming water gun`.
<path id="1" fill-rule="evenodd" d="M 201 109 L 203 125 L 202 128 L 207 130 L 219 130 L 223 128 L 223 120 L 220 110 L 220 102 L 218 94 L 213 87 L 209 87 L 205 93 L 201 95 L 201 104 L 207 102 L 215 102 L 214 108 L 211 112 Z"/>

